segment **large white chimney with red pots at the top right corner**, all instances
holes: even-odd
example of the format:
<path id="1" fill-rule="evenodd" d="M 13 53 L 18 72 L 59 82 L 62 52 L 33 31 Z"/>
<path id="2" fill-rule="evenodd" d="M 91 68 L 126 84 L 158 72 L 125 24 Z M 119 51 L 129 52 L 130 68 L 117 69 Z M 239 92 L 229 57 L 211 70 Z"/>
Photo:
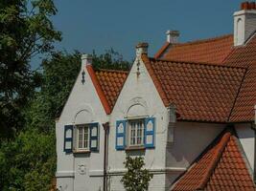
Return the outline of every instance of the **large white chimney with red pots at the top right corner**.
<path id="1" fill-rule="evenodd" d="M 256 31 L 256 4 L 244 2 L 241 10 L 234 13 L 234 46 L 244 45 Z"/>

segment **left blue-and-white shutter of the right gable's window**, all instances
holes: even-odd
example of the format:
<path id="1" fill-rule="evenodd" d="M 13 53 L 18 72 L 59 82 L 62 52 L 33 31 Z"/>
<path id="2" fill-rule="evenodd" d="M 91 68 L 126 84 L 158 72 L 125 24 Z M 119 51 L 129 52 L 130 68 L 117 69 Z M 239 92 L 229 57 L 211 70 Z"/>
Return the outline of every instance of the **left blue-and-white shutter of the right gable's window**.
<path id="1" fill-rule="evenodd" d="M 116 150 L 126 148 L 126 126 L 127 120 L 116 121 Z"/>

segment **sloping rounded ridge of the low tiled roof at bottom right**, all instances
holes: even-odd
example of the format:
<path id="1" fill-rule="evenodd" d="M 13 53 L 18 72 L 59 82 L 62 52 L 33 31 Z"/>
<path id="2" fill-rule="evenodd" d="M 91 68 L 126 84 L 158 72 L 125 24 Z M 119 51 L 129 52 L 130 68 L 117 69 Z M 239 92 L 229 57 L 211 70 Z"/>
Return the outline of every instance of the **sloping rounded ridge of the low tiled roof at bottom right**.
<path id="1" fill-rule="evenodd" d="M 206 172 L 205 172 L 206 175 L 202 178 L 202 180 L 200 180 L 198 189 L 203 190 L 208 180 L 211 178 L 214 172 L 214 169 L 216 168 L 219 160 L 221 159 L 223 150 L 226 147 L 227 142 L 231 138 L 231 135 L 232 135 L 231 130 L 229 127 L 227 127 L 221 132 L 220 134 L 221 138 L 220 137 L 217 138 L 217 140 L 220 140 L 220 141 L 223 140 L 223 142 L 221 142 L 220 145 L 217 145 L 218 149 L 215 151 L 213 159 L 210 161 L 210 164 L 207 166 Z M 214 143 L 216 142 L 214 141 Z"/>

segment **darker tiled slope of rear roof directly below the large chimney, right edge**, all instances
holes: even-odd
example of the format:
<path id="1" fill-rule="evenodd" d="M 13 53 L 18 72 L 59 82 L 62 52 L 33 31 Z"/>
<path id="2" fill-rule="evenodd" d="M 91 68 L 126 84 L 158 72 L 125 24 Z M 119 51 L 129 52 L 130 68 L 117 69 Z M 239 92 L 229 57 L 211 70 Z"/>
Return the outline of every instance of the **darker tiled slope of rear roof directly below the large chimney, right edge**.
<path id="1" fill-rule="evenodd" d="M 251 121 L 256 104 L 256 34 L 245 46 L 234 48 L 223 62 L 229 66 L 248 67 L 230 121 Z"/>

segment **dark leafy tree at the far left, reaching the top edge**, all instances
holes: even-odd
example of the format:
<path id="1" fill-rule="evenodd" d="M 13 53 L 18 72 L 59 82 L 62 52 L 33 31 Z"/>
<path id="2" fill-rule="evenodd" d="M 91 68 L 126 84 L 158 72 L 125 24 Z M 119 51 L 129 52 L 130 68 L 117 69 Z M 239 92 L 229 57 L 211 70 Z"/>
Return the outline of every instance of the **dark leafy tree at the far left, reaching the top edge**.
<path id="1" fill-rule="evenodd" d="M 29 62 L 60 40 L 50 20 L 56 13 L 53 0 L 0 1 L 0 138 L 23 126 L 21 110 L 40 82 Z"/>

